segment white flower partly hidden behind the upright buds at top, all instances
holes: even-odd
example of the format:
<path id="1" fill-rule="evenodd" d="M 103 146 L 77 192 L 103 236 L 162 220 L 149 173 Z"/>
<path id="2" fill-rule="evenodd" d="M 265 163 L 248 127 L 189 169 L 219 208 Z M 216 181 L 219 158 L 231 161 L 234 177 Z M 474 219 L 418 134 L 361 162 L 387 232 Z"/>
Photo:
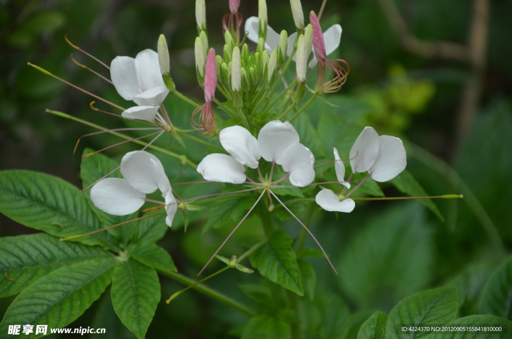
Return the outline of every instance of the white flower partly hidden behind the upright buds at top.
<path id="1" fill-rule="evenodd" d="M 257 16 L 251 16 L 245 22 L 245 32 L 248 34 L 247 38 L 258 44 L 259 39 L 259 21 Z M 288 50 L 287 55 L 290 56 L 293 51 L 293 43 L 297 37 L 297 32 L 292 33 L 288 36 Z M 339 41 L 342 39 L 342 27 L 338 24 L 332 25 L 324 32 L 324 40 L 327 55 L 334 52 L 339 47 Z M 269 52 L 278 48 L 279 45 L 279 34 L 276 33 L 272 27 L 267 26 L 267 39 L 265 40 L 265 49 Z M 311 47 L 311 50 L 313 48 Z M 295 56 L 293 56 L 295 60 Z M 309 62 L 309 67 L 313 68 L 316 66 L 316 57 L 313 54 L 313 59 Z"/>

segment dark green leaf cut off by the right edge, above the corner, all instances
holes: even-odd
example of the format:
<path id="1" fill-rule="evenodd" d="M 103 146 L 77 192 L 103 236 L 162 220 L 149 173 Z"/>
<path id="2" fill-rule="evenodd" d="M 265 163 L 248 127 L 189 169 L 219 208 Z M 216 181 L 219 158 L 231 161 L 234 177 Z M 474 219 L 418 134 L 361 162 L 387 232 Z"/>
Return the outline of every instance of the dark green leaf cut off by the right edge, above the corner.
<path id="1" fill-rule="evenodd" d="M 512 320 L 512 256 L 489 278 L 482 293 L 480 309 Z"/>

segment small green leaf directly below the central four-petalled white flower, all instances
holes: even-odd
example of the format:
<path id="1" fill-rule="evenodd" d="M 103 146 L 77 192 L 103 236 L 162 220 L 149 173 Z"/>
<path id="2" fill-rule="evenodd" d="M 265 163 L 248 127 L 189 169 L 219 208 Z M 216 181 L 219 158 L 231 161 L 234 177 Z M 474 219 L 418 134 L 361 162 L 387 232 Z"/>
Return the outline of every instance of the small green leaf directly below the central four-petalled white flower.
<path id="1" fill-rule="evenodd" d="M 203 233 L 210 228 L 220 228 L 226 224 L 226 221 L 240 221 L 256 201 L 251 195 L 233 194 L 216 201 L 210 207 L 208 220 L 203 225 Z"/>

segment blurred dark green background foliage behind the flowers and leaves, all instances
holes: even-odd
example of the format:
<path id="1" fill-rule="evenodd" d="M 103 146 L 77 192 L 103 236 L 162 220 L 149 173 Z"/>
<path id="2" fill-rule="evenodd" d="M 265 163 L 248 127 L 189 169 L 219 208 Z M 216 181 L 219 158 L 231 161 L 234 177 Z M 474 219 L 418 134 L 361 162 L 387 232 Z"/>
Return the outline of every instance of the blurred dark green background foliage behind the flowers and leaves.
<path id="1" fill-rule="evenodd" d="M 321 3 L 303 0 L 304 12 L 317 12 Z M 209 43 L 220 53 L 221 18 L 229 12 L 228 1 L 207 0 L 206 8 Z M 84 147 L 99 150 L 119 142 L 108 135 L 84 138 L 73 158 L 77 139 L 95 130 L 45 113 L 49 108 L 109 128 L 124 126 L 119 119 L 91 110 L 93 99 L 88 95 L 27 66 L 30 61 L 122 103 L 113 86 L 72 61 L 71 54 L 77 62 L 109 75 L 68 45 L 65 35 L 110 64 L 116 55 L 135 57 L 143 49 L 156 50 L 163 33 L 177 88 L 200 100 L 194 9 L 191 0 L 0 0 L 0 169 L 42 171 L 81 186 Z M 242 0 L 240 12 L 245 18 L 258 15 L 258 2 Z M 324 136 L 322 126 L 327 122 L 338 145 L 349 126 L 372 125 L 379 134 L 401 137 L 407 141 L 408 170 L 429 195 L 454 193 L 465 198 L 436 201 L 443 218 L 415 201 L 361 203 L 350 215 L 338 218 L 316 213 L 312 230 L 340 274 L 334 276 L 325 259 L 310 260 L 317 284 L 314 300 L 304 302 L 308 311 L 302 317 L 309 332 L 329 337 L 322 334 L 327 330 L 319 321 L 327 309 L 361 316 L 375 309 L 389 312 L 405 296 L 449 283 L 459 286 L 462 312 L 474 312 L 482 284 L 512 249 L 511 14 L 512 0 L 327 1 L 322 26 L 342 25 L 342 41 L 333 55 L 347 60 L 351 72 L 343 89 L 327 97 L 339 107 L 320 103 L 309 110 L 307 123 Z M 276 31 L 294 31 L 287 0 L 269 1 L 268 16 Z M 166 105 L 175 124 L 189 128 L 190 107 L 172 95 Z M 329 113 L 321 115 L 326 107 Z M 169 139 L 160 142 L 165 147 Z M 332 157 L 332 144 L 311 143 L 310 148 Z M 105 154 L 119 158 L 135 149 L 123 144 Z M 177 142 L 169 149 L 195 161 L 204 156 L 201 148 L 183 149 Z M 194 171 L 174 159 L 165 167 L 170 177 L 194 177 Z M 398 194 L 391 186 L 382 189 L 387 196 Z M 186 233 L 179 225 L 173 227 L 159 243 L 188 276 L 195 276 L 230 229 L 201 235 L 196 225 L 200 222 Z M 287 226 L 292 234 L 297 232 L 293 223 Z M 31 232 L 0 215 L 0 236 Z M 238 242 L 257 232 L 246 227 Z M 226 256 L 240 252 L 237 241 L 233 243 Z M 250 304 L 236 287 L 258 283 L 255 276 L 228 270 L 209 284 Z M 179 288 L 162 278 L 163 299 Z M 0 300 L 0 314 L 11 301 Z M 189 291 L 170 305 L 159 305 L 147 337 L 231 337 L 227 332 L 235 337 L 247 320 Z M 69 327 L 79 326 L 105 327 L 101 338 L 134 337 L 115 316 L 109 293 Z"/>

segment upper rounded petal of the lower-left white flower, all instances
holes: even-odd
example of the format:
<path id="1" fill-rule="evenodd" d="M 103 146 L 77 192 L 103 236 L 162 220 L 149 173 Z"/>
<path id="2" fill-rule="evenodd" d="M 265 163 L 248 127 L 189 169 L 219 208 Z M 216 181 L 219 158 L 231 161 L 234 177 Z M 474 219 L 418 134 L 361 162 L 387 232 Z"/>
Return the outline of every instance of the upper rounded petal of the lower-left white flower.
<path id="1" fill-rule="evenodd" d="M 151 153 L 133 151 L 126 153 L 121 160 L 121 174 L 135 189 L 146 194 L 160 188 L 165 197 L 170 190 L 169 179 L 162 163 Z"/>

